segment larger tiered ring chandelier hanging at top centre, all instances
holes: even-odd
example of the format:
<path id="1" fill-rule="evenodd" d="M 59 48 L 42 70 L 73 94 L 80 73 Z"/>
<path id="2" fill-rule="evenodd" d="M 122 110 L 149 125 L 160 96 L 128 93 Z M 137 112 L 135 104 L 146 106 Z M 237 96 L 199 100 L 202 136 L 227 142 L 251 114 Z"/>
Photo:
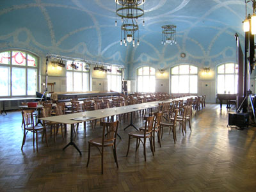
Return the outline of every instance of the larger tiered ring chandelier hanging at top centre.
<path id="1" fill-rule="evenodd" d="M 135 47 L 135 38 L 137 36 L 137 45 L 140 45 L 139 40 L 139 26 L 138 18 L 143 16 L 143 26 L 145 25 L 144 20 L 144 3 L 145 0 L 115 0 L 116 3 L 116 17 L 121 17 L 121 40 L 120 45 L 124 44 L 127 46 L 127 42 L 132 42 Z M 139 8 L 143 4 L 143 9 Z M 115 20 L 115 26 L 117 21 Z"/>

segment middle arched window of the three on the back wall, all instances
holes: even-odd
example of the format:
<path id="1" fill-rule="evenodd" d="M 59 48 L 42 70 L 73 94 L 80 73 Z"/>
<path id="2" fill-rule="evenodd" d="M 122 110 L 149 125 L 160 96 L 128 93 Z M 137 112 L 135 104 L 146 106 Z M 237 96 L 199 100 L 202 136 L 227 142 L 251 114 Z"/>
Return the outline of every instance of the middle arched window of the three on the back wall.
<path id="1" fill-rule="evenodd" d="M 172 93 L 197 93 L 198 68 L 193 65 L 178 65 L 171 68 Z"/>

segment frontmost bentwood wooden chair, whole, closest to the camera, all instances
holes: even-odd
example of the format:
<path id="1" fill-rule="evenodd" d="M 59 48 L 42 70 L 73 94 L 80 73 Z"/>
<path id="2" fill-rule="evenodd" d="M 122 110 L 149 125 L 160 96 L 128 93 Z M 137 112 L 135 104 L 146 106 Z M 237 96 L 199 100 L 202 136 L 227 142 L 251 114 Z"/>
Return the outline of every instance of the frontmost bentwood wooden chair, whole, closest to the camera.
<path id="1" fill-rule="evenodd" d="M 103 174 L 103 165 L 104 165 L 104 147 L 112 147 L 113 154 L 116 166 L 118 168 L 117 156 L 116 156 L 116 135 L 118 129 L 119 122 L 100 122 L 100 125 L 103 126 L 102 130 L 102 137 L 95 138 L 88 141 L 89 144 L 89 151 L 88 151 L 88 161 L 86 167 L 90 162 L 90 153 L 91 153 L 91 146 L 95 146 L 99 149 L 101 155 L 101 173 Z M 100 150 L 101 148 L 101 150 Z"/>

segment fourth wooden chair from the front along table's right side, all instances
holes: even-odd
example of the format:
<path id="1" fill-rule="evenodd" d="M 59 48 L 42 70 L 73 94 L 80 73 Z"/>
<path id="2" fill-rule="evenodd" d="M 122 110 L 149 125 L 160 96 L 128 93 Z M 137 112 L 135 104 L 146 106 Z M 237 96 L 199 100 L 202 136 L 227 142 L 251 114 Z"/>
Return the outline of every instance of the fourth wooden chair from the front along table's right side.
<path id="1" fill-rule="evenodd" d="M 174 143 L 176 143 L 176 141 L 177 141 L 177 138 L 176 138 L 176 124 L 177 124 L 177 115 L 178 115 L 178 113 L 179 113 L 179 109 L 175 109 L 173 118 L 171 118 L 170 121 L 160 122 L 160 128 L 159 128 L 160 132 L 161 132 L 161 138 L 163 138 L 163 128 L 164 127 L 169 127 L 169 129 L 170 129 L 169 134 L 172 131 Z"/>

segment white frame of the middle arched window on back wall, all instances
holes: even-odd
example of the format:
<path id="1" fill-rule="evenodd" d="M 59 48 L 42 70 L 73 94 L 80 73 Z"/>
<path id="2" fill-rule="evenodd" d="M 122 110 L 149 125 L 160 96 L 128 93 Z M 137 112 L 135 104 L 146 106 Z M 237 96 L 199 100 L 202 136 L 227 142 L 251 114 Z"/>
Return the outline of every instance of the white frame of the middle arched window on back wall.
<path id="1" fill-rule="evenodd" d="M 188 74 L 180 74 L 180 66 L 184 66 L 184 65 L 188 65 L 189 66 L 189 72 Z M 172 74 L 172 68 L 174 67 L 179 67 L 179 73 L 178 74 Z M 196 67 L 197 69 L 197 72 L 196 73 L 191 73 L 191 67 Z M 184 64 L 179 64 L 179 65 L 175 65 L 173 67 L 170 67 L 170 93 L 173 93 L 172 90 L 172 76 L 177 76 L 178 79 L 179 79 L 179 84 L 180 84 L 180 77 L 182 76 L 188 76 L 188 93 L 183 93 L 183 92 L 180 92 L 180 88 L 179 88 L 179 92 L 178 93 L 173 93 L 173 94 L 198 94 L 198 67 L 195 66 L 195 65 L 192 65 L 192 64 L 188 64 L 188 63 L 184 63 Z M 191 82 L 190 82 L 190 79 L 192 76 L 196 76 L 196 93 L 195 92 L 191 92 Z M 180 87 L 180 86 L 179 86 Z"/>

